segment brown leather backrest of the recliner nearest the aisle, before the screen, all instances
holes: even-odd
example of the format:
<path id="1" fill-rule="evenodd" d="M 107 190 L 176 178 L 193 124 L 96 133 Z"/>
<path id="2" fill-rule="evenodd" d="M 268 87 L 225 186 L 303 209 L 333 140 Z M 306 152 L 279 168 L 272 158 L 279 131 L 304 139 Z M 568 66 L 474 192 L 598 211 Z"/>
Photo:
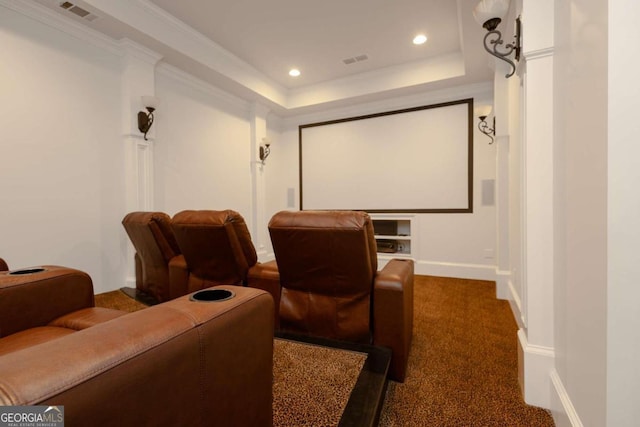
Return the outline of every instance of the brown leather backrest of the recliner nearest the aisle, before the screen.
<path id="1" fill-rule="evenodd" d="M 281 328 L 367 342 L 377 272 L 369 215 L 283 211 L 269 222 L 282 295 Z"/>

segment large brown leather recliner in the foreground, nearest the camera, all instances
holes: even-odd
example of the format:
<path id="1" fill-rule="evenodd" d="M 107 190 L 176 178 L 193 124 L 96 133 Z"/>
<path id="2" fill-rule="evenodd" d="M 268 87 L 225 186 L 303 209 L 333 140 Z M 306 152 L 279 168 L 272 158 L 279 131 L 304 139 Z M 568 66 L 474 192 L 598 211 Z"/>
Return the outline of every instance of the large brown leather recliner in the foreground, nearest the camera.
<path id="1" fill-rule="evenodd" d="M 183 296 L 93 307 L 77 270 L 0 272 L 0 405 L 63 405 L 70 426 L 271 426 L 273 300 Z"/>

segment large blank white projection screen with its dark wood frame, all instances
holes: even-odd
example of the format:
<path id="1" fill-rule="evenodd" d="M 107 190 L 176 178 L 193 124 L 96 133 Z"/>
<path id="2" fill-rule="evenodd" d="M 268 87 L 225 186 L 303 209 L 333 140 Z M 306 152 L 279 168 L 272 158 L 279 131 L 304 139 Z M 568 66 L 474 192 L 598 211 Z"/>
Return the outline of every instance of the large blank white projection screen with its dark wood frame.
<path id="1" fill-rule="evenodd" d="M 299 126 L 300 209 L 473 211 L 473 99 Z"/>

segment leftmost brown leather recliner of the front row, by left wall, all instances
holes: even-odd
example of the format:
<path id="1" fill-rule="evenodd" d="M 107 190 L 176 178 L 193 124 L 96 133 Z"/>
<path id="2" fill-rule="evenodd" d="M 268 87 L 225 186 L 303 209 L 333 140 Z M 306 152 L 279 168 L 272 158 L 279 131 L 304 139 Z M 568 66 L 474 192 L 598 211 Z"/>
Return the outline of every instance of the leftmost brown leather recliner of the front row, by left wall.
<path id="1" fill-rule="evenodd" d="M 131 212 L 122 220 L 136 250 L 136 290 L 157 302 L 189 292 L 187 267 L 163 212 Z"/>

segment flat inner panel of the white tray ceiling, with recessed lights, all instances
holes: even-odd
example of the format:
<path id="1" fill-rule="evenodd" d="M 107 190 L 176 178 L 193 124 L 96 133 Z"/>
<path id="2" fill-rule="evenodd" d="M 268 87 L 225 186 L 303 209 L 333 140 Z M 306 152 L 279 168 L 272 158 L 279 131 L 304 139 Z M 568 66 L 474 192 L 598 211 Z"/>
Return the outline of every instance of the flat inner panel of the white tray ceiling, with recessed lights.
<path id="1" fill-rule="evenodd" d="M 452 0 L 152 1 L 287 88 L 461 48 Z M 417 33 L 429 42 L 413 45 Z M 294 66 L 299 78 L 287 74 Z"/>

